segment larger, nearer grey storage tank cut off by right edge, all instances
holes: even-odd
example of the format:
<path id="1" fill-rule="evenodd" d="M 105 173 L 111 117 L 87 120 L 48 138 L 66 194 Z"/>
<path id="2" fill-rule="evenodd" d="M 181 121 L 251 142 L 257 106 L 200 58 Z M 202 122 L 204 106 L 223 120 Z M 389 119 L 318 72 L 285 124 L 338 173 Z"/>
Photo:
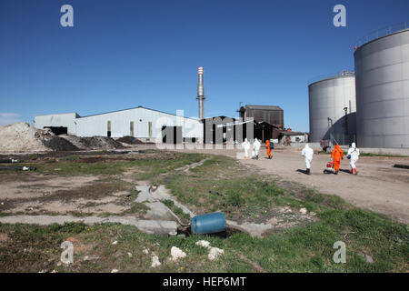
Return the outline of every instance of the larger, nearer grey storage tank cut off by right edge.
<path id="1" fill-rule="evenodd" d="M 354 53 L 357 146 L 409 147 L 409 29 Z"/>

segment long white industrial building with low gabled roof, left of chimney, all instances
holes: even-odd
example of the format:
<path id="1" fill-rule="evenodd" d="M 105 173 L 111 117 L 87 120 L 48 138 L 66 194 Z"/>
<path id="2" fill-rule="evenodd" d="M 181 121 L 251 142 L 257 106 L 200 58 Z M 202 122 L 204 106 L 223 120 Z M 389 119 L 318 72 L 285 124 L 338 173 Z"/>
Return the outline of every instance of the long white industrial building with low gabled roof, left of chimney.
<path id="1" fill-rule="evenodd" d="M 174 137 L 178 142 L 203 140 L 203 124 L 198 119 L 179 114 L 172 115 L 143 106 L 88 116 L 76 113 L 36 115 L 35 128 L 51 128 L 58 134 L 77 136 L 129 135 L 156 143 L 169 142 L 165 136 Z"/>

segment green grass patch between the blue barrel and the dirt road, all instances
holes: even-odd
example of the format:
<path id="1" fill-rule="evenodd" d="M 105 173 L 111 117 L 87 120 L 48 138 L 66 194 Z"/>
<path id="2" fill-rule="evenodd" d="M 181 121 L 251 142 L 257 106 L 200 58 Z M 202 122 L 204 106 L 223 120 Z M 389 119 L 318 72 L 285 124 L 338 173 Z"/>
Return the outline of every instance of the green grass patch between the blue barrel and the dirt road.
<path id="1" fill-rule="evenodd" d="M 338 196 L 324 196 L 300 185 L 294 189 L 279 186 L 268 176 L 241 169 L 225 156 L 212 157 L 191 172 L 194 174 L 164 179 L 177 200 L 199 214 L 223 211 L 227 218 L 262 218 L 270 216 L 275 206 L 306 207 L 309 211 L 348 207 Z M 164 181 L 156 179 L 155 183 Z"/>

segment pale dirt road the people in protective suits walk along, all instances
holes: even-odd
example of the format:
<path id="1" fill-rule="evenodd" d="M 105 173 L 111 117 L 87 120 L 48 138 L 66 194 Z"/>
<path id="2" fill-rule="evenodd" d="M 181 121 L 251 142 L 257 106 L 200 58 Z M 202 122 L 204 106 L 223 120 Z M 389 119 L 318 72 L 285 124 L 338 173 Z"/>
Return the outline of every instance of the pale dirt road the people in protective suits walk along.
<path id="1" fill-rule="evenodd" d="M 155 146 L 139 146 L 155 148 Z M 409 165 L 409 157 L 362 156 L 356 166 L 357 176 L 349 174 L 349 161 L 344 158 L 338 175 L 324 174 L 329 160 L 326 154 L 315 151 L 311 176 L 305 170 L 302 147 L 279 147 L 268 160 L 262 145 L 260 159 L 241 159 L 244 165 L 254 166 L 260 173 L 287 181 L 302 183 L 324 193 L 341 196 L 354 206 L 373 210 L 403 223 L 409 223 L 409 170 L 394 168 L 394 164 Z M 242 150 L 234 149 L 179 149 L 182 152 L 200 152 L 236 157 Z M 243 156 L 243 154 L 242 154 Z"/>

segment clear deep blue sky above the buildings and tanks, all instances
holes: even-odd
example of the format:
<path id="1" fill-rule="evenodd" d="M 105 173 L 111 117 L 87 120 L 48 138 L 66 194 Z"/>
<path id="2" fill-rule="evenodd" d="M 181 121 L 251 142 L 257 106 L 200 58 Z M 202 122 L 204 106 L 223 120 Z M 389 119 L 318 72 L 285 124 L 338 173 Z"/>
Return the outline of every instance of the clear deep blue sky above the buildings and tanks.
<path id="1" fill-rule="evenodd" d="M 60 25 L 65 4 L 74 27 Z M 308 131 L 309 80 L 353 70 L 357 39 L 404 21 L 408 0 L 1 0 L 0 125 L 138 105 L 196 116 L 203 65 L 206 116 L 279 105 Z"/>

